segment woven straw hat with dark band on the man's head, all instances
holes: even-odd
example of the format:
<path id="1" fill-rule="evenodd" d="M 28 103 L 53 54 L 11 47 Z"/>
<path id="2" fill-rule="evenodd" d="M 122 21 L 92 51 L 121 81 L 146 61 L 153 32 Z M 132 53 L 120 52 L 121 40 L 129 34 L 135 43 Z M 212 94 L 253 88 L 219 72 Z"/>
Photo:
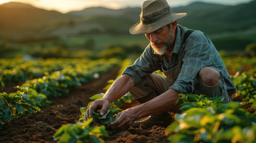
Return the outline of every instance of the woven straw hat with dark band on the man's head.
<path id="1" fill-rule="evenodd" d="M 186 13 L 173 13 L 166 0 L 147 0 L 141 7 L 140 22 L 130 28 L 130 33 L 151 33 L 184 16 Z"/>

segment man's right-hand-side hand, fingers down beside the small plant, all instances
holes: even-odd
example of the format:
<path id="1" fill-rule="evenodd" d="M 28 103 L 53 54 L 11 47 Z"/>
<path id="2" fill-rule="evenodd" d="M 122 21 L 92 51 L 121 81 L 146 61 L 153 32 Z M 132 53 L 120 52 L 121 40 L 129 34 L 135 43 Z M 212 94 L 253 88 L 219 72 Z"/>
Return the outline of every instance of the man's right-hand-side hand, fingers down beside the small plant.
<path id="1" fill-rule="evenodd" d="M 110 126 L 113 129 L 126 129 L 129 128 L 133 122 L 137 120 L 136 113 L 133 113 L 131 109 L 119 112 L 117 117 L 115 117 L 115 121 L 110 123 Z"/>

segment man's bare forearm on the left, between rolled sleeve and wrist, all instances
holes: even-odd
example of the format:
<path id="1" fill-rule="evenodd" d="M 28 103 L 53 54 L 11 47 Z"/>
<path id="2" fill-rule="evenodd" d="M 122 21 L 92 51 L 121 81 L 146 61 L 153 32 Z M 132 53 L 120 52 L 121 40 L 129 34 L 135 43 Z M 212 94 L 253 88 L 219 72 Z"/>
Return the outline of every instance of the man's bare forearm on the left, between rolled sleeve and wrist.
<path id="1" fill-rule="evenodd" d="M 110 86 L 105 93 L 104 98 L 107 98 L 110 103 L 124 96 L 134 86 L 134 81 L 130 75 L 122 75 Z"/>

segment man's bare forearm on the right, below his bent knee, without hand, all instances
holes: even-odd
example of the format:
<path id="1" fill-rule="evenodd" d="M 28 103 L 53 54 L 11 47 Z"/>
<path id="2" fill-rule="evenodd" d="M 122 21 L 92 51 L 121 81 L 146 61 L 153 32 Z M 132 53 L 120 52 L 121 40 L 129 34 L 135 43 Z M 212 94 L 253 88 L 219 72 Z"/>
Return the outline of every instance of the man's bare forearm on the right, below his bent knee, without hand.
<path id="1" fill-rule="evenodd" d="M 169 89 L 152 100 L 128 110 L 135 113 L 137 119 L 172 110 L 175 107 L 176 100 L 180 98 L 178 94 L 176 90 Z"/>

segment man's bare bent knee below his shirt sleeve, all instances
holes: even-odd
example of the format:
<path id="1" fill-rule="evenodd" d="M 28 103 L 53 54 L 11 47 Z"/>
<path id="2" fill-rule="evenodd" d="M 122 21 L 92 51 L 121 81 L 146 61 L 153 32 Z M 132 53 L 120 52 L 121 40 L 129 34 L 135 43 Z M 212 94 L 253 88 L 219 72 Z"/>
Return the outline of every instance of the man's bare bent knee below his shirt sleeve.
<path id="1" fill-rule="evenodd" d="M 201 68 L 198 75 L 206 86 L 215 86 L 220 81 L 220 73 L 209 66 Z"/>

